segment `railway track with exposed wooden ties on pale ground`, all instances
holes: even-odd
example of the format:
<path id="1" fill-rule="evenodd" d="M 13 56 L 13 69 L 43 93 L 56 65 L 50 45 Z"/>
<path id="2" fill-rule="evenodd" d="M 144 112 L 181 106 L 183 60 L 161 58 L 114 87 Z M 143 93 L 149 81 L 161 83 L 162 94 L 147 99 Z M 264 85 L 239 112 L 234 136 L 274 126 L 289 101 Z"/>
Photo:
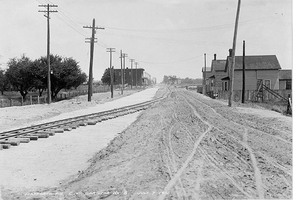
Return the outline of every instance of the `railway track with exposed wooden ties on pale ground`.
<path id="1" fill-rule="evenodd" d="M 141 110 L 145 110 L 147 105 L 155 103 L 161 99 L 167 98 L 162 96 L 150 101 L 139 104 L 125 106 L 113 110 L 99 113 L 82 115 L 74 118 L 58 120 L 54 122 L 34 125 L 21 129 L 0 133 L 0 150 L 9 149 L 11 145 L 17 146 L 20 143 L 27 143 L 30 140 L 38 140 L 39 138 L 47 138 L 55 135 L 55 133 L 64 133 L 72 131 L 79 126 L 96 125 L 99 122 L 114 119 L 123 115 L 132 114 Z"/>

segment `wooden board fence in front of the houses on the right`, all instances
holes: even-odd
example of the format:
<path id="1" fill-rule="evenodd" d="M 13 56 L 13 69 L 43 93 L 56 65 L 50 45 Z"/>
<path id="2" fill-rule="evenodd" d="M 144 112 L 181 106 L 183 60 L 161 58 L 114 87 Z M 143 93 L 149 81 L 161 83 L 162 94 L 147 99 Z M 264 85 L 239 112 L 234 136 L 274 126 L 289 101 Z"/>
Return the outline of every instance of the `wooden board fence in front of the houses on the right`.
<path id="1" fill-rule="evenodd" d="M 279 95 L 283 96 L 285 99 L 288 98 L 288 94 L 292 94 L 292 90 L 273 90 Z M 228 99 L 229 91 L 219 91 L 218 99 Z M 257 97 L 257 90 L 245 90 L 245 101 L 262 101 L 261 98 Z M 241 102 L 242 99 L 242 90 L 234 90 L 232 100 L 235 102 Z M 267 90 L 263 90 L 263 101 L 277 100 L 285 101 L 284 99 L 279 99 Z"/>

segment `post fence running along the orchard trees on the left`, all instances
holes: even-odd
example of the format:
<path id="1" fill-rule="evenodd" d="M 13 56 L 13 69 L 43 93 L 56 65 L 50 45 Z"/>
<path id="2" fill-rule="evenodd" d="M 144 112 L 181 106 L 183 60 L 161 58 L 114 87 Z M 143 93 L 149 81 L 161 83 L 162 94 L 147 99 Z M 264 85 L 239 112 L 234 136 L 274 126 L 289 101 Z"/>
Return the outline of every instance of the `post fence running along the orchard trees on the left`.
<path id="1" fill-rule="evenodd" d="M 114 85 L 114 89 L 121 88 L 120 85 Z M 110 87 L 99 86 L 93 88 L 93 93 L 100 93 L 100 92 L 109 92 Z M 71 90 L 69 92 L 63 92 L 56 96 L 55 99 L 52 99 L 52 102 L 62 101 L 65 99 L 71 99 L 76 96 L 86 95 L 88 93 L 87 90 Z M 11 107 L 11 106 L 27 106 L 27 105 L 34 105 L 34 104 L 45 104 L 48 103 L 48 98 L 46 95 L 39 97 L 39 96 L 27 96 L 25 99 L 22 97 L 19 98 L 11 98 L 11 99 L 1 99 L 0 100 L 0 108 L 4 107 Z"/>

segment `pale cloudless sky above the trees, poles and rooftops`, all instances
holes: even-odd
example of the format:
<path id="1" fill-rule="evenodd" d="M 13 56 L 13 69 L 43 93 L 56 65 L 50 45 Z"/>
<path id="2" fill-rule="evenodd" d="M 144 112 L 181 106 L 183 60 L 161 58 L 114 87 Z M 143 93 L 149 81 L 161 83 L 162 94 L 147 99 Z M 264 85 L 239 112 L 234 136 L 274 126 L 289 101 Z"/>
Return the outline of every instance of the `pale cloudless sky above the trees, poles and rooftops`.
<path id="1" fill-rule="evenodd" d="M 73 57 L 88 74 L 91 29 L 97 29 L 93 77 L 121 68 L 120 50 L 160 82 L 164 75 L 201 78 L 214 54 L 225 60 L 232 48 L 238 0 L 1 0 L 0 67 L 22 54 L 32 60 L 47 55 L 45 7 L 50 13 L 50 53 Z M 236 56 L 276 55 L 282 69 L 292 69 L 292 0 L 242 0 Z M 133 65 L 133 68 L 135 66 Z M 53 72 L 54 73 L 54 72 Z"/>

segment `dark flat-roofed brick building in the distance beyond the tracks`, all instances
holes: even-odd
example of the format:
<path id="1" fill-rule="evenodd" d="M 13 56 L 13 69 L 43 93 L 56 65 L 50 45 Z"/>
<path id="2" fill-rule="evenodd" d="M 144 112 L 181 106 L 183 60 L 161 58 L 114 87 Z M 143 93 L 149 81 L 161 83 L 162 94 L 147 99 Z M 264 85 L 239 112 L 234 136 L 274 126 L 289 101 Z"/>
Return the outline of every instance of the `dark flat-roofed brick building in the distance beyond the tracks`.
<path id="1" fill-rule="evenodd" d="M 121 83 L 121 68 L 114 68 L 116 75 L 117 75 L 117 82 L 114 84 L 122 84 Z M 128 83 L 128 85 L 131 85 L 131 69 L 130 68 L 125 68 L 122 69 L 123 71 L 125 70 L 125 84 Z M 133 79 L 133 86 L 143 86 L 147 85 L 147 77 L 144 76 L 144 70 L 143 68 L 133 68 L 132 69 L 132 79 Z"/>

